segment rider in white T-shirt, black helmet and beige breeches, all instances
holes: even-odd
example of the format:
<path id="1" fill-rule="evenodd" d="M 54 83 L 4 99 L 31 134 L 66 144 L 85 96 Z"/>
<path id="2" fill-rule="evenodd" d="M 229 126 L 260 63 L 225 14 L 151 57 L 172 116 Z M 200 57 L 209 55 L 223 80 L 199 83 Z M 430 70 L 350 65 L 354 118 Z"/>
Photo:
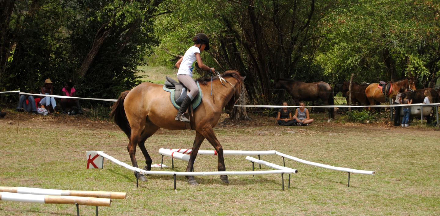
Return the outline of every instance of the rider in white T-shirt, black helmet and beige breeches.
<path id="1" fill-rule="evenodd" d="M 192 65 L 194 61 L 197 61 L 199 68 L 202 68 L 203 70 L 211 70 L 213 73 L 215 72 L 214 68 L 209 68 L 203 64 L 202 58 L 200 57 L 200 53 L 203 50 L 209 50 L 208 36 L 204 33 L 198 33 L 194 36 L 193 42 L 194 46 L 190 47 L 183 57 L 176 63 L 176 68 L 179 69 L 177 72 L 177 79 L 189 90 L 187 97 L 183 100 L 179 112 L 177 112 L 176 115 L 176 120 L 182 122 L 190 122 L 183 113 L 187 111 L 191 101 L 198 95 L 198 87 L 192 79 Z"/>

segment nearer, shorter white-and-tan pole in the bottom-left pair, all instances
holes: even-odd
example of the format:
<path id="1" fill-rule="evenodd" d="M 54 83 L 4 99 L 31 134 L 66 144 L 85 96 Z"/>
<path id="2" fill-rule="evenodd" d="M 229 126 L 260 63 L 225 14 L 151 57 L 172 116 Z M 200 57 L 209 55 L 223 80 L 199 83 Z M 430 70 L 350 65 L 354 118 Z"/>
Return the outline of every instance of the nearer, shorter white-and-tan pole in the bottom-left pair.
<path id="1" fill-rule="evenodd" d="M 48 204 L 78 204 L 78 205 L 95 205 L 95 206 L 111 205 L 111 199 L 109 198 L 16 194 L 10 192 L 0 192 L 0 200 L 15 201 L 15 202 L 48 203 Z"/>

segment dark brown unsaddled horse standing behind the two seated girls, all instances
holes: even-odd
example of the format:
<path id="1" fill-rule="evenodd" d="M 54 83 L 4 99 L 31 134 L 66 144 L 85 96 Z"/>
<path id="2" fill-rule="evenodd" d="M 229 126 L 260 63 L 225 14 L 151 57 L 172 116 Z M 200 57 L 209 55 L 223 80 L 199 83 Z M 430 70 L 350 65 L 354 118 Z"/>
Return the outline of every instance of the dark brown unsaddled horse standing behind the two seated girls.
<path id="1" fill-rule="evenodd" d="M 326 105 L 334 105 L 333 88 L 328 83 L 304 83 L 292 79 L 278 79 L 274 83 L 275 92 L 286 90 L 295 101 L 296 106 L 300 101 L 315 101 L 321 99 Z M 329 120 L 334 119 L 334 108 L 329 108 Z"/>

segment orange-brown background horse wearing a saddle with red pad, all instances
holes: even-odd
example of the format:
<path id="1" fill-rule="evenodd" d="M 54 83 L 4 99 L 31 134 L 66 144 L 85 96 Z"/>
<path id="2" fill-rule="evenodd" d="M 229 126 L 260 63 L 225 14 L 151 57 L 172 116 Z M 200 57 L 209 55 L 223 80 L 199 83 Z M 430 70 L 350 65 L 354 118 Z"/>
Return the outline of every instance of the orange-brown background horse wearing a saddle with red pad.
<path id="1" fill-rule="evenodd" d="M 378 83 L 371 83 L 365 89 L 365 96 L 370 102 L 370 105 L 379 105 L 380 103 L 386 102 L 385 96 L 382 94 L 381 89 L 378 88 L 378 85 Z M 395 97 L 402 86 L 407 89 L 415 90 L 414 80 L 408 78 L 402 79 L 396 82 L 391 82 L 391 93 L 388 97 Z M 374 111 L 374 107 L 370 107 L 370 110 Z"/>

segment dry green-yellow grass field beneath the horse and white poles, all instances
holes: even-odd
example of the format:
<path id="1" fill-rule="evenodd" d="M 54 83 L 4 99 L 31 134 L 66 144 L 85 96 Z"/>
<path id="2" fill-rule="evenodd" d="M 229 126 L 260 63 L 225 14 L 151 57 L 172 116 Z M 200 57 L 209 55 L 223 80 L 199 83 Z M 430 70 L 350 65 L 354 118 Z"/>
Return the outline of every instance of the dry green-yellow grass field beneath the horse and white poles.
<path id="1" fill-rule="evenodd" d="M 299 170 L 286 191 L 282 191 L 280 175 L 229 176 L 230 184 L 222 183 L 219 176 L 196 176 L 201 184 L 196 187 L 177 176 L 174 191 L 172 176 L 147 176 L 148 181 L 136 188 L 133 173 L 110 161 L 104 161 L 104 169 L 85 169 L 85 151 L 104 151 L 131 164 L 126 150 L 128 139 L 111 122 L 14 112 L 7 117 L 0 119 L 1 185 L 127 192 L 126 200 L 114 199 L 111 207 L 100 208 L 102 215 L 440 213 L 440 136 L 432 128 L 329 124 L 324 117 L 308 127 L 275 126 L 274 119 L 256 116 L 252 121 L 221 119 L 215 133 L 225 150 L 276 150 L 377 174 L 352 174 L 347 187 L 347 173 L 286 160 L 286 166 Z M 161 129 L 146 146 L 153 162 L 159 163 L 159 148 L 191 148 L 193 139 L 193 131 Z M 213 148 L 205 140 L 201 149 Z M 137 158 L 143 166 L 139 150 Z M 261 159 L 282 165 L 279 156 Z M 225 163 L 230 171 L 252 170 L 244 156 L 226 156 Z M 171 160 L 165 158 L 164 164 L 171 166 Z M 184 171 L 186 162 L 176 160 L 175 166 L 174 170 Z M 198 156 L 194 171 L 216 171 L 216 158 Z M 94 207 L 81 206 L 80 211 L 92 215 Z M 74 215 L 76 210 L 74 205 L 0 201 L 0 215 L 51 214 Z"/>

